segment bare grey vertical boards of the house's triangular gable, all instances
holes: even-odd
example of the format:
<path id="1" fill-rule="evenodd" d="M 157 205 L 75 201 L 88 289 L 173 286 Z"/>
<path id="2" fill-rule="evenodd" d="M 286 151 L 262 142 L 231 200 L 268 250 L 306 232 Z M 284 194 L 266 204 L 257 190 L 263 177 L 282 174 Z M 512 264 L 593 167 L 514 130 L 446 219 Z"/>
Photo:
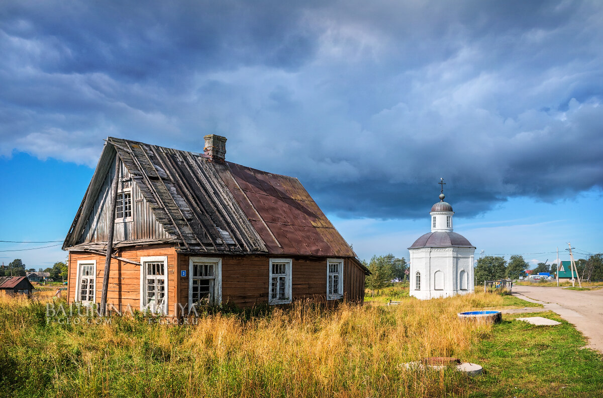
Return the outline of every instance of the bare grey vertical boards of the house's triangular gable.
<path id="1" fill-rule="evenodd" d="M 77 243 L 107 242 L 108 226 L 113 219 L 112 215 L 109 214 L 107 198 L 110 196 L 111 182 L 113 181 L 114 174 L 115 170 L 110 169 Z M 115 223 L 113 242 L 139 239 L 169 239 L 169 234 L 163 230 L 163 226 L 155 219 L 151 207 L 142 196 L 142 193 L 140 193 L 136 182 L 131 179 L 131 175 L 123 163 L 121 164 L 121 175 L 122 178 L 130 178 L 132 185 L 132 220 Z"/>

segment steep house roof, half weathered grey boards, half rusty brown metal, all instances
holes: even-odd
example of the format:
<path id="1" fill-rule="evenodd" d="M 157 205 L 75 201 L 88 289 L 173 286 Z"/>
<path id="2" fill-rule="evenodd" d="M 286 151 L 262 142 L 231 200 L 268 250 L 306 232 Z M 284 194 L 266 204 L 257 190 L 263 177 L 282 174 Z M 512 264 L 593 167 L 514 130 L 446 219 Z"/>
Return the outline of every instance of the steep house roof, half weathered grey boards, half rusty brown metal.
<path id="1" fill-rule="evenodd" d="M 63 249 L 77 248 L 118 155 L 181 252 L 355 257 L 297 178 L 109 137 Z"/>

